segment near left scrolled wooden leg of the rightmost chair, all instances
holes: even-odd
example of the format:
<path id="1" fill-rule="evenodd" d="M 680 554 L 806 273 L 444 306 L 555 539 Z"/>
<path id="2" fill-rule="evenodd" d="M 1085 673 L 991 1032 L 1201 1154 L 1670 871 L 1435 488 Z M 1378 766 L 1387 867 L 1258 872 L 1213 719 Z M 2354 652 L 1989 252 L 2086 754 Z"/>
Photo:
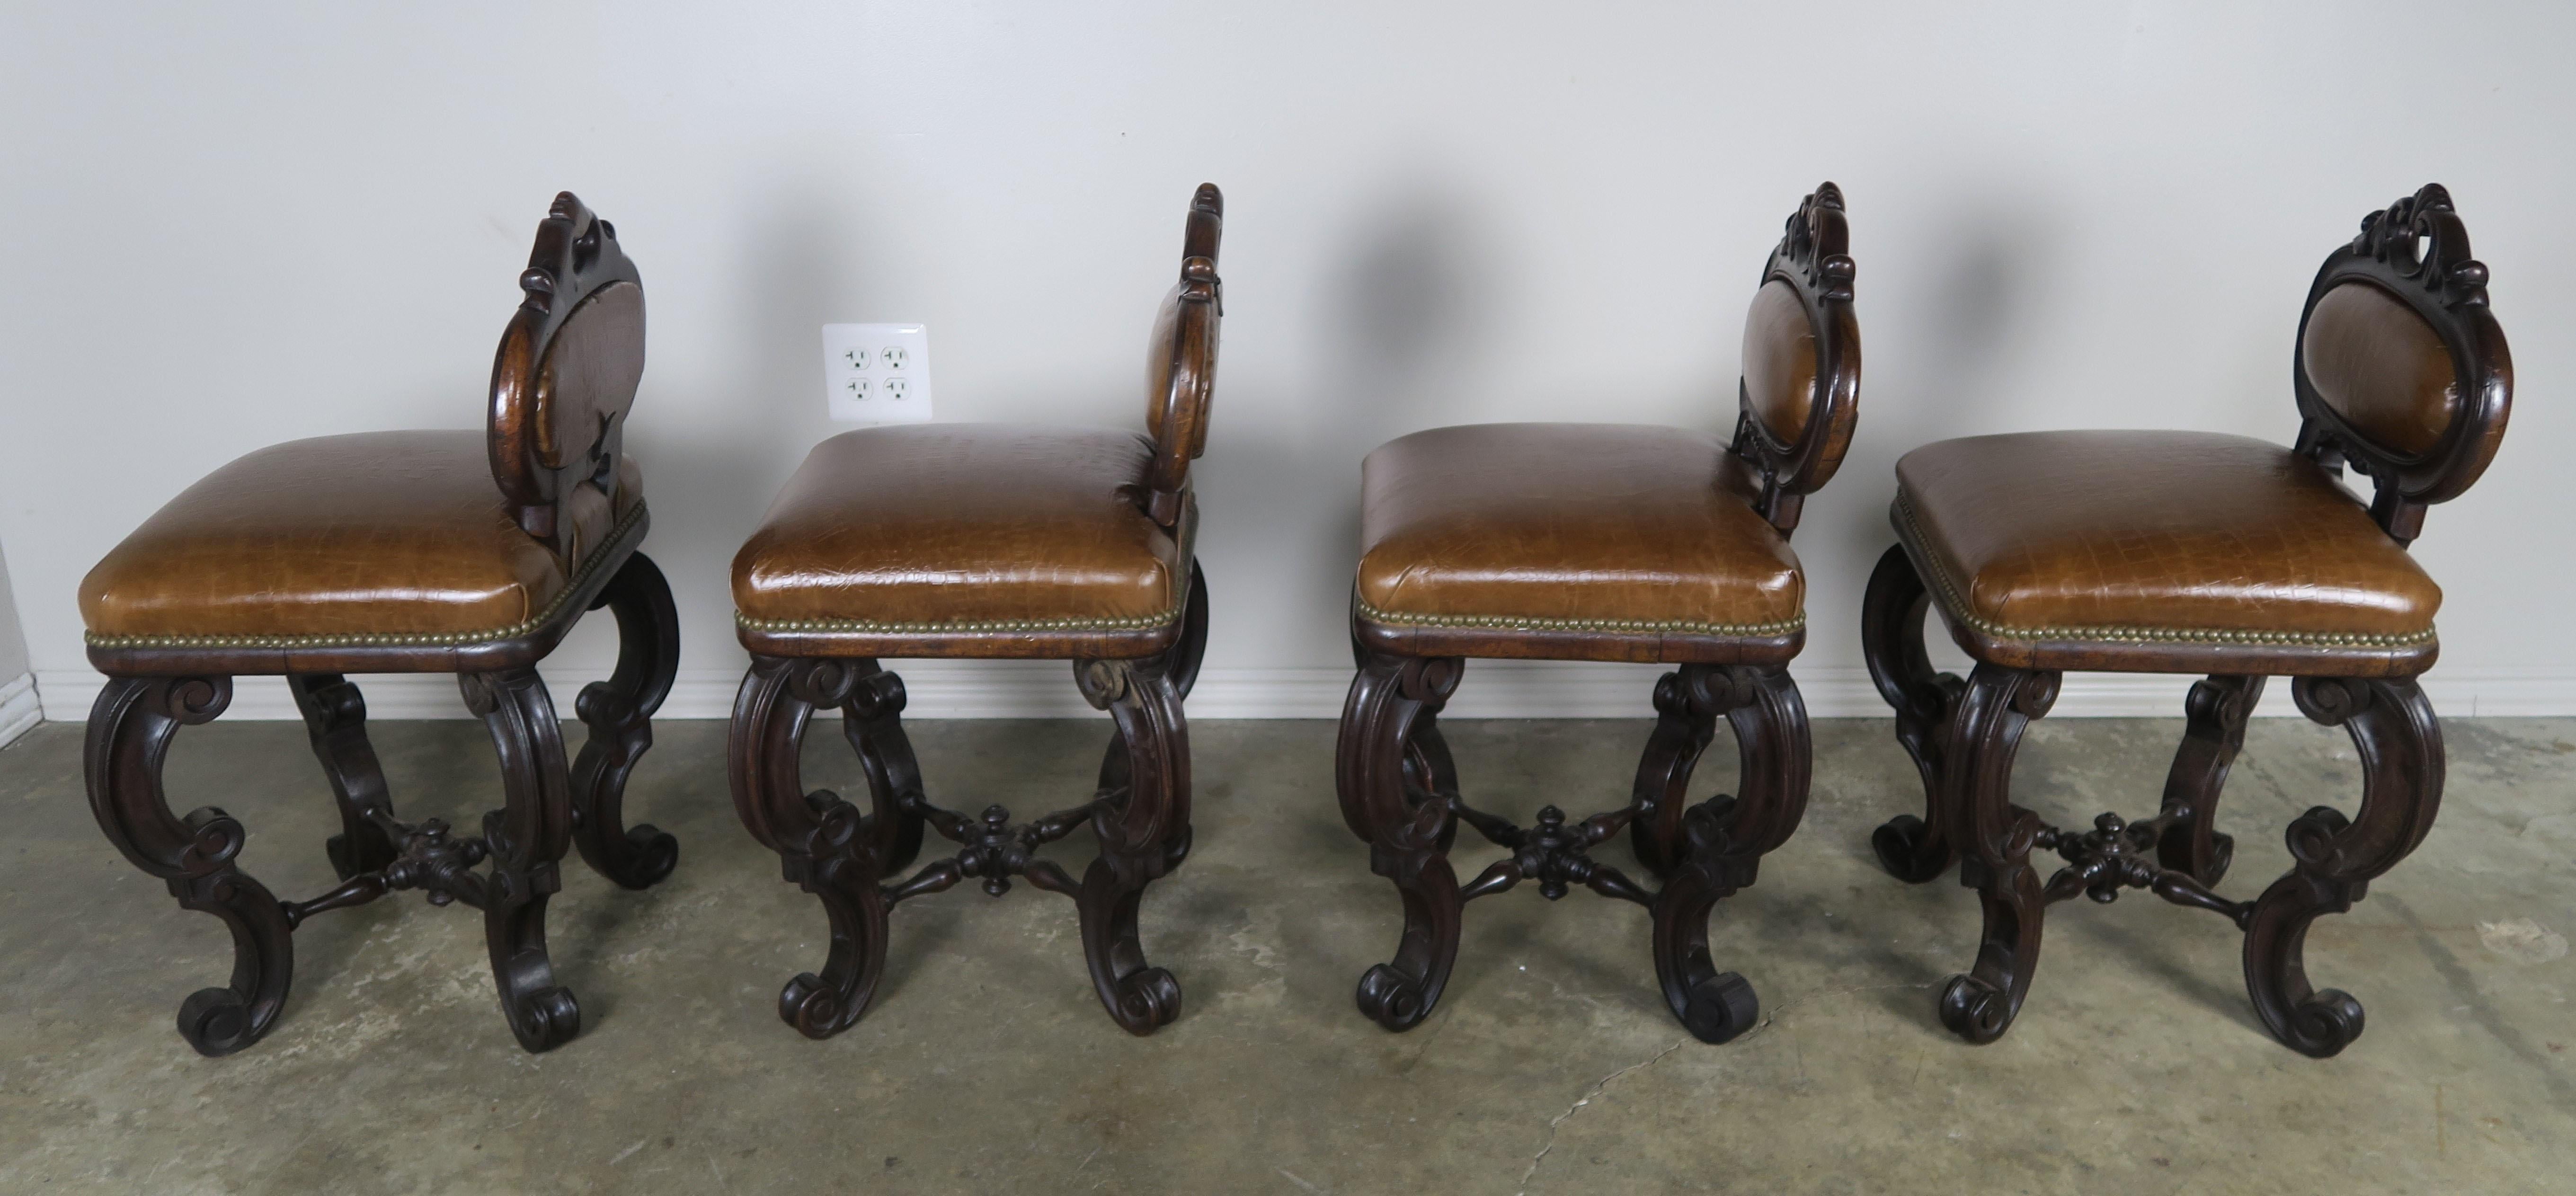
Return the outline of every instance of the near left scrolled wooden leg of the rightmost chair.
<path id="1" fill-rule="evenodd" d="M 1940 1021 L 1986 1044 L 2012 1028 L 2040 967 L 2045 884 L 2030 866 L 2038 815 L 2012 804 L 2012 758 L 2032 719 L 2058 699 L 2056 673 L 1976 665 L 1958 701 L 1942 753 L 1947 840 L 1965 856 L 1960 884 L 1976 889 L 1986 928 L 1976 967 L 1950 977 Z"/>

